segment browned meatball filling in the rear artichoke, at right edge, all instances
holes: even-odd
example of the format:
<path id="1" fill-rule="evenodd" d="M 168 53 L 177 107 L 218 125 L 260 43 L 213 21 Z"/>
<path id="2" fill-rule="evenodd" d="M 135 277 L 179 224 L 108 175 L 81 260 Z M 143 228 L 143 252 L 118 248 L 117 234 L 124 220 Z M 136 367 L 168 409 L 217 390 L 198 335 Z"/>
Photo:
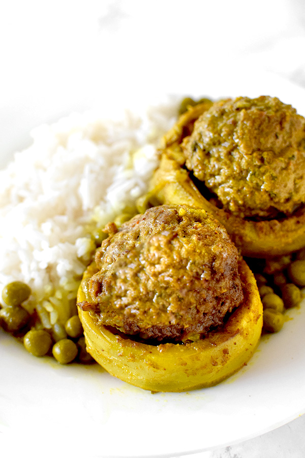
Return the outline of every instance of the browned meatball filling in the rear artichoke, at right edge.
<path id="1" fill-rule="evenodd" d="M 305 119 L 277 98 L 216 102 L 183 148 L 189 170 L 233 214 L 289 215 L 305 202 Z"/>

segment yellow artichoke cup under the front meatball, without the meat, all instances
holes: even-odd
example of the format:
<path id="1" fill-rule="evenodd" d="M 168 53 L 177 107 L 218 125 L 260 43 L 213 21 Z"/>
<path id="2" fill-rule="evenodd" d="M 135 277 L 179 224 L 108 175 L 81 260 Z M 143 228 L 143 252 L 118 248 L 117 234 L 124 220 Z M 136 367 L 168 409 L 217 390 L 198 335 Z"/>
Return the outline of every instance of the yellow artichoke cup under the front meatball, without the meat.
<path id="1" fill-rule="evenodd" d="M 92 264 L 84 278 L 96 272 Z M 109 374 L 150 391 L 181 392 L 216 385 L 247 364 L 258 345 L 263 309 L 253 273 L 239 264 L 243 303 L 221 329 L 187 344 L 149 345 L 99 324 L 78 309 L 87 351 Z M 85 300 L 82 286 L 78 302 Z"/>

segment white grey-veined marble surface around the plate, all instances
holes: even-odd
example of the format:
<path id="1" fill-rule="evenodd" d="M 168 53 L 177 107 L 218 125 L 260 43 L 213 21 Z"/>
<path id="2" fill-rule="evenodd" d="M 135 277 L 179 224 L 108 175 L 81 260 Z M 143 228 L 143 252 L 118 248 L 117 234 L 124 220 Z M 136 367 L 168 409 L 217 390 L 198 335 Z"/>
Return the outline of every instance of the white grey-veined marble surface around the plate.
<path id="1" fill-rule="evenodd" d="M 225 78 L 248 66 L 305 88 L 303 0 L 11 0 L 0 7 L 0 43 L 0 109 L 8 125 L 12 102 L 25 103 L 28 91 L 34 105 L 51 93 L 55 107 L 58 94 L 77 100 L 84 83 L 175 89 L 177 72 L 186 81 L 199 72 L 204 82 L 205 72 Z M 188 458 L 301 458 L 304 430 L 303 416 Z"/>

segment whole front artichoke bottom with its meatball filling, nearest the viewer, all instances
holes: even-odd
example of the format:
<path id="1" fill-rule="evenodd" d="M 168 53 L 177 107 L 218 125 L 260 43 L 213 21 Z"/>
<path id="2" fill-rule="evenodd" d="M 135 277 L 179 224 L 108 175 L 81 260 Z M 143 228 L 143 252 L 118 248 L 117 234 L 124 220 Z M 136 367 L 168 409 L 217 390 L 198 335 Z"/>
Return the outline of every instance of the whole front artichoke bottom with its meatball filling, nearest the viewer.
<path id="1" fill-rule="evenodd" d="M 262 330 L 255 278 L 204 210 L 148 209 L 109 236 L 78 291 L 87 351 L 150 391 L 188 391 L 247 364 Z"/>

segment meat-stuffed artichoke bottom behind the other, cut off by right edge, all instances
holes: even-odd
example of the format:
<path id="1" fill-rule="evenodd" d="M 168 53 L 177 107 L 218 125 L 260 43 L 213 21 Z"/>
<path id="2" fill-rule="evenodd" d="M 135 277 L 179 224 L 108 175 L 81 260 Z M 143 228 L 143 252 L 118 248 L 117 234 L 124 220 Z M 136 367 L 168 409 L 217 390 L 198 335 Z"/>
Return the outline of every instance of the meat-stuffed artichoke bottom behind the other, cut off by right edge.
<path id="1" fill-rule="evenodd" d="M 149 196 L 205 209 L 242 255 L 305 246 L 305 119 L 277 98 L 189 106 L 165 135 Z"/>

